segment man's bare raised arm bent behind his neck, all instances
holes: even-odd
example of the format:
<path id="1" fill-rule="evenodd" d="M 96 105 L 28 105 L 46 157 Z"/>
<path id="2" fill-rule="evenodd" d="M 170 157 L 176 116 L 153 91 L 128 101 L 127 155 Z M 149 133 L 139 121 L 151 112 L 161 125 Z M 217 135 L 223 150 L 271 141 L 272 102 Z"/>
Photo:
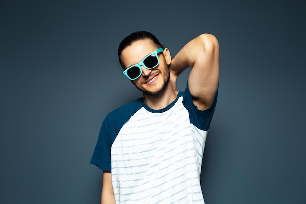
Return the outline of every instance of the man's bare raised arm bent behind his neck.
<path id="1" fill-rule="evenodd" d="M 171 84 L 176 89 L 176 78 L 187 67 L 192 67 L 188 87 L 194 104 L 200 110 L 213 102 L 219 80 L 219 45 L 215 36 L 202 34 L 189 41 L 172 59 Z"/>

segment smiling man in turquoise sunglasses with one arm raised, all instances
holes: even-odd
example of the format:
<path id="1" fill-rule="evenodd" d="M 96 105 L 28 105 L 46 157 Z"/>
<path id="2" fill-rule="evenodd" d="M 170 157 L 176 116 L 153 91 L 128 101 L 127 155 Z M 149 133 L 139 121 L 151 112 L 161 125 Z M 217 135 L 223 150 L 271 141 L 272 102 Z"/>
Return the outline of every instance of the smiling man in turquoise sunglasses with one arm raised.
<path id="1" fill-rule="evenodd" d="M 204 204 L 199 178 L 217 100 L 216 38 L 202 34 L 171 59 L 154 35 L 136 32 L 120 43 L 118 55 L 143 97 L 102 124 L 91 159 L 103 170 L 101 203 Z M 187 67 L 187 88 L 176 91 Z"/>

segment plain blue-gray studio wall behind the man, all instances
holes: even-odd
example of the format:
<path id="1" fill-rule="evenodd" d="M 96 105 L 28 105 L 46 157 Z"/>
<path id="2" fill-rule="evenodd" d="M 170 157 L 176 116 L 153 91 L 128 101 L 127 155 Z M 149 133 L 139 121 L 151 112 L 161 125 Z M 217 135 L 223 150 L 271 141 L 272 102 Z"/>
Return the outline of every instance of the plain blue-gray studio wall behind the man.
<path id="1" fill-rule="evenodd" d="M 102 171 L 89 161 L 101 122 L 141 96 L 117 47 L 147 30 L 172 56 L 201 33 L 219 40 L 206 204 L 305 204 L 305 10 L 302 0 L 2 0 L 0 203 L 99 203 Z"/>

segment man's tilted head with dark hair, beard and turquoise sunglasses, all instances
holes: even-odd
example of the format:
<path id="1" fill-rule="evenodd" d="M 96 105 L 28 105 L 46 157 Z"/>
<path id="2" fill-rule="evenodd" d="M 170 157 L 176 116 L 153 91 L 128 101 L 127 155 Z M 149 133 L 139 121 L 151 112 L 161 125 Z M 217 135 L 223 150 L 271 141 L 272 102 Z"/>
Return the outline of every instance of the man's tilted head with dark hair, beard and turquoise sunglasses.
<path id="1" fill-rule="evenodd" d="M 165 91 L 170 79 L 168 65 L 171 56 L 169 50 L 164 49 L 153 34 L 142 31 L 127 36 L 119 45 L 118 56 L 123 69 L 135 65 L 140 71 L 139 78 L 136 77 L 131 82 L 144 94 L 157 96 Z M 156 66 L 146 68 L 147 57 L 155 60 Z"/>

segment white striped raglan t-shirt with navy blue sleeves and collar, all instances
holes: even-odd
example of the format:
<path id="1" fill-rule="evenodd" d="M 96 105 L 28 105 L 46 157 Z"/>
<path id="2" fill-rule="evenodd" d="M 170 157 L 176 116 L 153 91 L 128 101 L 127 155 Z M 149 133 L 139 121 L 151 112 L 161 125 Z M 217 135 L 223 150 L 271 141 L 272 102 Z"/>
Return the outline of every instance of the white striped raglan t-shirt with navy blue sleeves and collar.
<path id="1" fill-rule="evenodd" d="M 112 173 L 116 204 L 204 204 L 200 172 L 215 110 L 200 111 L 188 87 L 161 110 L 142 98 L 107 115 L 91 164 Z"/>

